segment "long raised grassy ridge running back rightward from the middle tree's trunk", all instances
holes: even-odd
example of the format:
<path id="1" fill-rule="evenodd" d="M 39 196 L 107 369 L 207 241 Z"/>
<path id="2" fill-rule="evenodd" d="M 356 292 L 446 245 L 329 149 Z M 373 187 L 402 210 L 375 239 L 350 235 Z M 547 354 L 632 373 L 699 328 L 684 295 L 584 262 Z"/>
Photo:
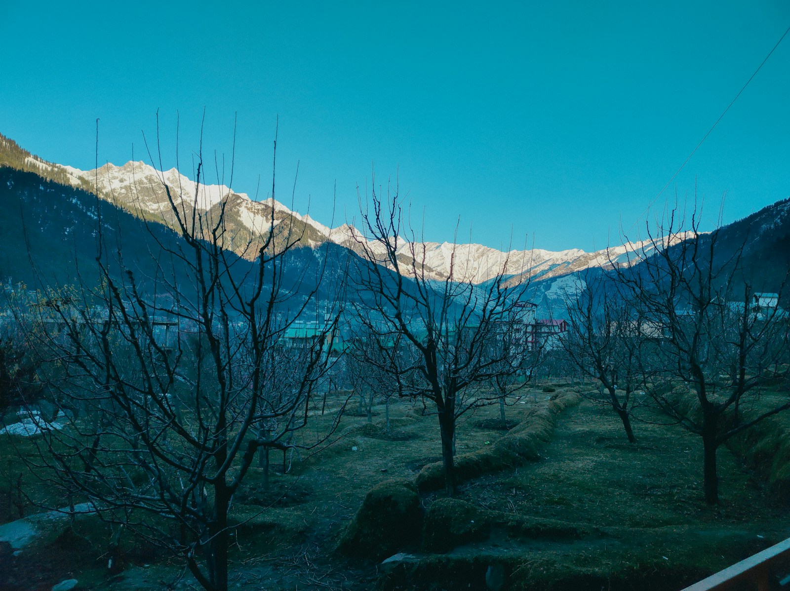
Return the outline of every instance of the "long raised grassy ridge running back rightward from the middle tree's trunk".
<path id="1" fill-rule="evenodd" d="M 554 429 L 554 416 L 570 406 L 577 405 L 581 397 L 574 393 L 559 393 L 543 405 L 533 408 L 517 427 L 496 440 L 493 445 L 469 454 L 455 457 L 456 481 L 463 482 L 498 470 L 510 469 L 524 461 L 539 459 L 538 450 L 549 439 Z M 421 491 L 433 491 L 444 486 L 442 462 L 429 464 L 417 475 Z"/>

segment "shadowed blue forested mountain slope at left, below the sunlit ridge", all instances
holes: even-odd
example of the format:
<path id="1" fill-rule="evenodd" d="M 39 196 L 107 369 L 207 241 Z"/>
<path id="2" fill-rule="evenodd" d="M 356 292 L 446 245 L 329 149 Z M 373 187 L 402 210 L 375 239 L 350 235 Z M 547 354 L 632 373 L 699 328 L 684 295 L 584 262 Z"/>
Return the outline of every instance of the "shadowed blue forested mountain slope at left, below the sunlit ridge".
<path id="1" fill-rule="evenodd" d="M 173 256 L 179 252 L 188 256 L 190 248 L 178 232 L 163 224 L 144 220 L 85 190 L 8 167 L 0 167 L 0 210 L 0 284 L 90 290 L 100 284 L 96 258 L 101 254 L 111 277 L 130 284 L 131 275 L 143 294 L 162 293 L 164 280 L 177 286 L 183 297 L 194 296 L 184 265 Z M 258 263 L 229 256 L 231 273 L 244 288 L 253 280 Z M 340 283 L 338 273 L 342 274 L 348 256 L 348 250 L 332 243 L 293 249 L 283 261 L 281 277 L 283 294 L 295 295 L 287 305 L 299 307 L 311 292 L 318 302 L 336 297 L 332 290 Z"/>

